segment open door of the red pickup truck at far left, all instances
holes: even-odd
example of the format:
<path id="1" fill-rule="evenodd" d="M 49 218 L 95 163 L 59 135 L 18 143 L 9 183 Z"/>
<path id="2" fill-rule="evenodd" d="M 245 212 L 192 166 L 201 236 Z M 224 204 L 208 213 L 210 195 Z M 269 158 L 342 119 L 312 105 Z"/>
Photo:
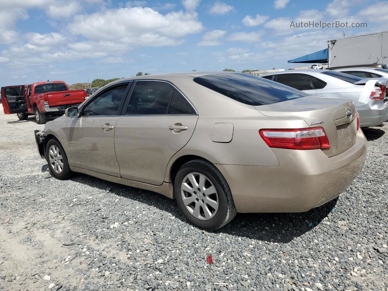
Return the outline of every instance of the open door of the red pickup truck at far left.
<path id="1" fill-rule="evenodd" d="M 1 88 L 3 111 L 5 114 L 27 112 L 27 100 L 24 85 Z"/>

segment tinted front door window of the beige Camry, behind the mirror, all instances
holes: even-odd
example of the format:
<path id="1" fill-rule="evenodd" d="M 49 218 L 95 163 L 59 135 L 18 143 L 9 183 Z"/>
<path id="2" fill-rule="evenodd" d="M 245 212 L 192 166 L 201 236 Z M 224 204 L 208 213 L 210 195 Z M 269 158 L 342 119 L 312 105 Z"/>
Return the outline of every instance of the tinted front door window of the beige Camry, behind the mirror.
<path id="1" fill-rule="evenodd" d="M 83 110 L 83 115 L 119 115 L 118 109 L 128 84 L 114 87 L 100 94 Z"/>

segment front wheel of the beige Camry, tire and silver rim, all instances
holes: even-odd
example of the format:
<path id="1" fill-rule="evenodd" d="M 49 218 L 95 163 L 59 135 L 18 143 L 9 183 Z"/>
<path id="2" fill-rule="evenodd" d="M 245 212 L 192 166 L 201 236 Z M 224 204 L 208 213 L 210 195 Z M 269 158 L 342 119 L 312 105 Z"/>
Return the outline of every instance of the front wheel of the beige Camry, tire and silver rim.
<path id="1" fill-rule="evenodd" d="M 49 164 L 51 174 L 60 180 L 70 178 L 73 171 L 70 170 L 68 158 L 61 143 L 52 138 L 47 142 L 46 161 Z"/>

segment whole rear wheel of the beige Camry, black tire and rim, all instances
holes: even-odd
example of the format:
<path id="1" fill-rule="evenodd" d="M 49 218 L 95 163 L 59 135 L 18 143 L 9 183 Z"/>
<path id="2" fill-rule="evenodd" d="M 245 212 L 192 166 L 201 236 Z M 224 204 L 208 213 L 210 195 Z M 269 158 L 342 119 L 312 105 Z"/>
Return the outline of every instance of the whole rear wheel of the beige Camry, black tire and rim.
<path id="1" fill-rule="evenodd" d="M 185 163 L 175 177 L 174 189 L 180 211 L 201 229 L 219 229 L 237 214 L 228 183 L 206 160 Z"/>

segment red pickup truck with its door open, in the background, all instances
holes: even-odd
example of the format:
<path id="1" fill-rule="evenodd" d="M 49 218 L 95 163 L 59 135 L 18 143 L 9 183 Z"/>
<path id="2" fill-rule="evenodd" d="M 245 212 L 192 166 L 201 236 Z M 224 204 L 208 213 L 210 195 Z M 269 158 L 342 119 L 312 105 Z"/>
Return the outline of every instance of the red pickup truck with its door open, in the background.
<path id="1" fill-rule="evenodd" d="M 68 107 L 78 106 L 87 97 L 85 90 L 69 90 L 63 81 L 47 81 L 1 88 L 5 114 L 16 113 L 20 120 L 35 115 L 36 123 L 46 123 L 46 114 L 61 116 Z"/>

